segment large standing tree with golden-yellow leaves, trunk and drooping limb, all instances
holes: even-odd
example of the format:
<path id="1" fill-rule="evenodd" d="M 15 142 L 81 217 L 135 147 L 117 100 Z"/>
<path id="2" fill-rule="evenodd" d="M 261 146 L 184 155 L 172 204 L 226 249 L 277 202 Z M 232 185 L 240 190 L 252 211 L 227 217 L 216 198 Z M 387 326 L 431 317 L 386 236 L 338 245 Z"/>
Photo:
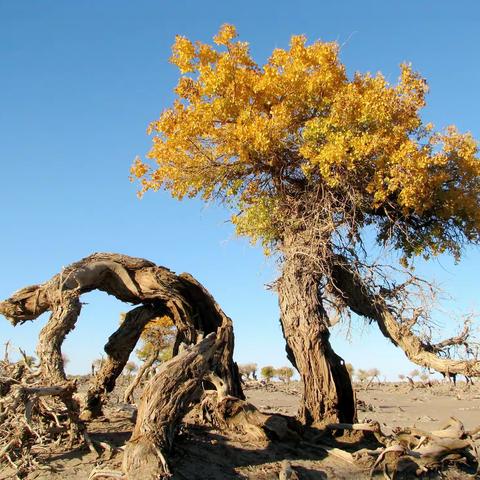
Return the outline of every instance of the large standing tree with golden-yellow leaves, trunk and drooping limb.
<path id="1" fill-rule="evenodd" d="M 304 385 L 302 421 L 356 418 L 350 375 L 329 342 L 334 315 L 376 322 L 422 367 L 474 375 L 470 320 L 435 342 L 432 285 L 397 268 L 419 255 L 459 260 L 480 243 L 472 135 L 425 123 L 428 86 L 408 64 L 390 84 L 381 73 L 349 76 L 334 42 L 293 36 L 264 65 L 232 25 L 214 43 L 177 36 L 177 97 L 151 123 L 153 146 L 132 178 L 140 194 L 164 188 L 225 203 L 239 235 L 279 254 L 275 289 Z"/>

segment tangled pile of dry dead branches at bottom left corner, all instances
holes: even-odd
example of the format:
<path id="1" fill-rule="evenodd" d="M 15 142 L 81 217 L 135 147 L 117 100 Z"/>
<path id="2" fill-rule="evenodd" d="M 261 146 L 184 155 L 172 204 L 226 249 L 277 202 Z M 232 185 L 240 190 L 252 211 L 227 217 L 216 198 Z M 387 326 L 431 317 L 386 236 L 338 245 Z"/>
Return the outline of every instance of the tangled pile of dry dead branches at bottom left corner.
<path id="1" fill-rule="evenodd" d="M 40 369 L 23 352 L 18 362 L 9 360 L 8 347 L 5 352 L 0 362 L 0 464 L 23 478 L 32 469 L 47 468 L 39 463 L 39 453 L 89 439 L 73 398 L 76 384 L 45 385 Z"/>

